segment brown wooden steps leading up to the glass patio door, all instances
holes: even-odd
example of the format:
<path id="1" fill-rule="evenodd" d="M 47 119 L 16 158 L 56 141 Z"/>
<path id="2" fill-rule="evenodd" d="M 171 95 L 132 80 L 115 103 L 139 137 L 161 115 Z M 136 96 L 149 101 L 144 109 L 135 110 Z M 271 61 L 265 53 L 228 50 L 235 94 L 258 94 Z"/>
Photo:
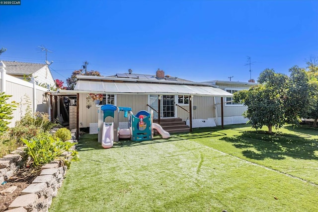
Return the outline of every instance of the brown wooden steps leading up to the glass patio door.
<path id="1" fill-rule="evenodd" d="M 154 123 L 158 123 L 158 119 L 154 120 Z M 168 119 L 160 119 L 160 125 L 166 132 L 173 133 L 189 133 L 190 128 L 185 124 L 184 121 L 180 118 L 168 118 Z M 157 135 L 157 130 L 154 130 Z"/>

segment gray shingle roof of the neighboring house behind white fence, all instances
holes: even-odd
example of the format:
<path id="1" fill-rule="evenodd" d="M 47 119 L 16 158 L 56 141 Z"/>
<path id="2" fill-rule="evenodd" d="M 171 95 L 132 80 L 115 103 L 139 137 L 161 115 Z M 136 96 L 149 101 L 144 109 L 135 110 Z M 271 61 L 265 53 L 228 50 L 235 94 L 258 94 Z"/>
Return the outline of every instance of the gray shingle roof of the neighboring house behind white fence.
<path id="1" fill-rule="evenodd" d="M 36 71 L 39 71 L 45 64 L 34 64 L 34 63 L 22 63 L 13 61 L 2 61 L 5 65 L 7 74 L 15 75 L 29 75 Z"/>

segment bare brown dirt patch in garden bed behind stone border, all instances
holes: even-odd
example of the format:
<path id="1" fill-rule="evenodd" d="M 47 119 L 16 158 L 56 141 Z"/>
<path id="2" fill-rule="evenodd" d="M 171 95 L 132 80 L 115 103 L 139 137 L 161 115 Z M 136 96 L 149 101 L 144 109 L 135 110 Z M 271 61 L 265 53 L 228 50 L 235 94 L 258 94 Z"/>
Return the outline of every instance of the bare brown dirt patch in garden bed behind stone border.
<path id="1" fill-rule="evenodd" d="M 22 167 L 14 174 L 14 176 L 6 180 L 6 183 L 0 185 L 0 212 L 7 210 L 8 206 L 13 202 L 13 200 L 15 200 L 15 198 L 21 194 L 21 191 L 28 187 L 28 185 L 30 185 L 32 181 L 40 174 L 40 171 L 40 167 Z M 12 193 L 2 192 L 5 189 L 9 189 L 13 186 L 16 186 L 17 188 Z"/>

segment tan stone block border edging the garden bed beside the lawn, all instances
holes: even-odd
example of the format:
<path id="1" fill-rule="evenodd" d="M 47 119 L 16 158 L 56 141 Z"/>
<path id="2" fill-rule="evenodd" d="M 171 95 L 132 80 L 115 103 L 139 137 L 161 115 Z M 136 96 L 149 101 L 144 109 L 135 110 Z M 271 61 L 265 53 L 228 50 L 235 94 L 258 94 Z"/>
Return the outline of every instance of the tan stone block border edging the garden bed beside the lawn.
<path id="1" fill-rule="evenodd" d="M 54 130 L 55 129 L 53 129 L 53 132 Z M 71 135 L 74 140 L 69 140 L 70 142 L 75 141 L 75 134 L 76 131 L 72 130 Z M 0 158 L 0 167 L 2 167 L 0 169 L 0 180 L 2 178 L 3 180 L 9 179 L 14 175 L 14 172 L 18 169 L 19 165 L 21 165 L 19 162 L 23 162 L 24 148 L 25 147 L 20 147 Z M 72 150 L 75 149 L 76 145 L 72 147 Z M 62 156 L 65 156 L 69 161 L 72 159 L 71 152 L 64 152 Z M 9 210 L 5 212 L 48 212 L 53 197 L 56 197 L 58 189 L 62 186 L 67 169 L 67 166 L 57 160 L 43 165 L 40 175 L 21 192 L 20 196 L 9 205 Z"/>

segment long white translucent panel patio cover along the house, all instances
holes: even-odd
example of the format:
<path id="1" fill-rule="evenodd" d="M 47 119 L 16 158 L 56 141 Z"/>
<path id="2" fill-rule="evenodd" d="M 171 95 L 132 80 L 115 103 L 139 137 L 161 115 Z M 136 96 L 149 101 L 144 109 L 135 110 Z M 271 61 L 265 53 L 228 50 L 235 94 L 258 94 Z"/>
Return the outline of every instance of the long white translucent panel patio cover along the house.
<path id="1" fill-rule="evenodd" d="M 110 94 L 179 94 L 232 97 L 233 94 L 209 85 L 168 84 L 145 82 L 107 82 L 78 80 L 74 91 Z"/>

